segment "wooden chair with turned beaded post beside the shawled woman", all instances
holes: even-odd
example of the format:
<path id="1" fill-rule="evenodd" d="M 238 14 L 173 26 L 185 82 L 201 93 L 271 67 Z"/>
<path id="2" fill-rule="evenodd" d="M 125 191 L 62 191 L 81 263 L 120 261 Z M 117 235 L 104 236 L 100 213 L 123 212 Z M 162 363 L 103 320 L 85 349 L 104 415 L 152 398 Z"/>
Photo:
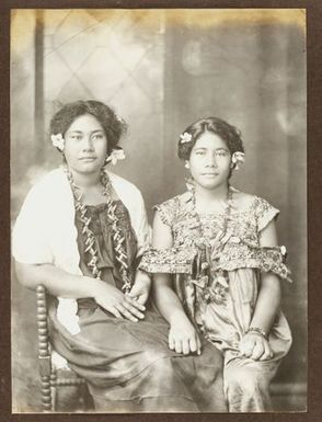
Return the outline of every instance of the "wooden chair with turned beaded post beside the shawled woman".
<path id="1" fill-rule="evenodd" d="M 48 330 L 48 308 L 46 288 L 36 289 L 38 362 L 42 389 L 42 407 L 44 412 L 85 411 L 93 407 L 85 380 L 68 366 L 64 369 L 55 367 L 53 347 Z"/>

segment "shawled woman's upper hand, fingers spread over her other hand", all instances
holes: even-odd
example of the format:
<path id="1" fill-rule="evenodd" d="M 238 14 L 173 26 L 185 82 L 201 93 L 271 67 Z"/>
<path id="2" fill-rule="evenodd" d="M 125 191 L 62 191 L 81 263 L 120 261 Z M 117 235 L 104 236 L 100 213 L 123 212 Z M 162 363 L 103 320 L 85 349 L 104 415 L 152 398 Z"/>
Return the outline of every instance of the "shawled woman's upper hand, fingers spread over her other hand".
<path id="1" fill-rule="evenodd" d="M 116 318 L 126 318 L 134 322 L 145 318 L 146 307 L 143 305 L 124 295 L 118 288 L 103 282 L 96 286 L 94 299 L 97 305 Z"/>

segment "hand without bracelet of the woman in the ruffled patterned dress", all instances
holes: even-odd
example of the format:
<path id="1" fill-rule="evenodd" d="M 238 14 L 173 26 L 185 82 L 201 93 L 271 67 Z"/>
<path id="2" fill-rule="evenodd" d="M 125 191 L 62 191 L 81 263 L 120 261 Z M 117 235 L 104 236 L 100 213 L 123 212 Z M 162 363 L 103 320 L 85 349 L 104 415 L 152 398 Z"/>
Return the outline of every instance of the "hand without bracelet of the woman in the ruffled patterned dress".
<path id="1" fill-rule="evenodd" d="M 202 353 L 199 335 L 185 315 L 175 317 L 170 323 L 169 347 L 176 353 L 188 355 Z"/>

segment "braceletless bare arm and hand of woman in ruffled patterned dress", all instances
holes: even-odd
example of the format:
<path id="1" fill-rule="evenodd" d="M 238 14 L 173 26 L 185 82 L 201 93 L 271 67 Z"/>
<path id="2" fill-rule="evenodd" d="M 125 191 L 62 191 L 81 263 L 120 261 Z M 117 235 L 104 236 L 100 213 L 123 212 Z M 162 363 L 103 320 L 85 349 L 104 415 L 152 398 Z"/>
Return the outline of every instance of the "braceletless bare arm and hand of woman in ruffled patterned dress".
<path id="1" fill-rule="evenodd" d="M 158 249 L 173 246 L 171 229 L 162 221 L 158 212 L 153 221 L 152 244 Z M 200 354 L 198 334 L 172 288 L 170 274 L 154 274 L 152 292 L 158 309 L 170 323 L 169 347 L 177 353 Z"/>

